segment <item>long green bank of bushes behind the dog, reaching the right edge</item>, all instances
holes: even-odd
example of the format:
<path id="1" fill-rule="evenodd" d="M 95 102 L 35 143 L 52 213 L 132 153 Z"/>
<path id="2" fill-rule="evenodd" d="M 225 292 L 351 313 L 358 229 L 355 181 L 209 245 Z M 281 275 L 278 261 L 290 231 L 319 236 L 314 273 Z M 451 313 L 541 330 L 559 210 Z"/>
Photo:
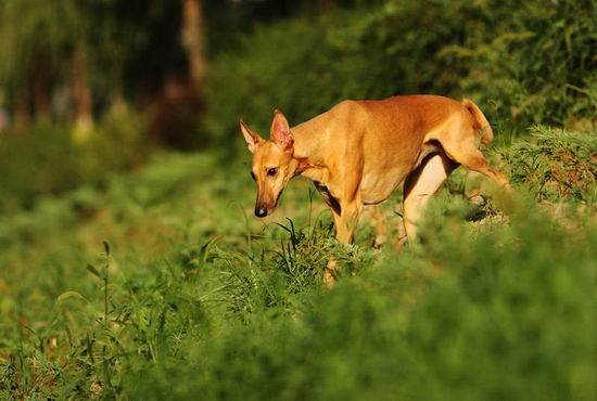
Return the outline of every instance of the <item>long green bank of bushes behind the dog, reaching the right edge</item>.
<path id="1" fill-rule="evenodd" d="M 473 99 L 498 140 L 537 122 L 590 128 L 593 15 L 584 0 L 389 1 L 258 26 L 213 62 L 205 129 L 229 138 L 242 116 L 265 132 L 274 108 L 298 124 L 344 99 L 414 93 Z"/>

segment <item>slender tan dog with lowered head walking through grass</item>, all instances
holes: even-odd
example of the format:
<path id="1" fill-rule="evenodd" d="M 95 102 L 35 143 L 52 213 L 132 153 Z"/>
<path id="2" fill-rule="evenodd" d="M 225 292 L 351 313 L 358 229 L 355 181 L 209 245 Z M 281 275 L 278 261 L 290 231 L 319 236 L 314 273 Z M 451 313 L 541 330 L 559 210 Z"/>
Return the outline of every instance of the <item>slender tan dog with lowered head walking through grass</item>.
<path id="1" fill-rule="evenodd" d="M 291 178 L 308 177 L 332 210 L 336 238 L 346 243 L 353 241 L 364 205 L 385 200 L 403 181 L 409 240 L 416 237 L 429 197 L 459 165 L 508 186 L 479 150 L 480 142 L 492 142 L 493 131 L 468 99 L 411 95 L 344 101 L 293 128 L 276 111 L 269 141 L 242 120 L 240 125 L 253 153 L 255 215 L 265 217 L 276 208 Z M 330 261 L 327 282 L 333 281 L 336 269 Z"/>

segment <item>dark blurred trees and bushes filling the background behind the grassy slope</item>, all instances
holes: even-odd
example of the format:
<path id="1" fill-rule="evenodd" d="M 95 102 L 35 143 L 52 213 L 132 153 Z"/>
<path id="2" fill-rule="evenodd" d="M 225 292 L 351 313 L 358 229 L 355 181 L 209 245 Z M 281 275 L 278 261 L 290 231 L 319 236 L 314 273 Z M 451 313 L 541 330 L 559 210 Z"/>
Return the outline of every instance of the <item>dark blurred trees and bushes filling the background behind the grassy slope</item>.
<path id="1" fill-rule="evenodd" d="M 278 107 L 478 102 L 509 141 L 595 125 L 595 1 L 2 0 L 0 212 L 101 185 L 160 148 L 242 150 Z"/>

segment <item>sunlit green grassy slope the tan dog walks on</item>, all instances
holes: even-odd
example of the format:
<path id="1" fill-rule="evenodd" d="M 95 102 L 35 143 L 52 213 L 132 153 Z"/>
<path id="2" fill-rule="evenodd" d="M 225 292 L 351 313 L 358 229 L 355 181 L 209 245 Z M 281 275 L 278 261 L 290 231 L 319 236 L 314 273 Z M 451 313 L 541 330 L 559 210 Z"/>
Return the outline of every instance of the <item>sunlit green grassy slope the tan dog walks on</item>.
<path id="1" fill-rule="evenodd" d="M 331 240 L 305 180 L 253 218 L 209 154 L 4 216 L 0 398 L 594 400 L 595 133 L 534 132 L 493 152 L 523 196 L 470 205 L 457 171 L 399 255 L 367 215 Z"/>

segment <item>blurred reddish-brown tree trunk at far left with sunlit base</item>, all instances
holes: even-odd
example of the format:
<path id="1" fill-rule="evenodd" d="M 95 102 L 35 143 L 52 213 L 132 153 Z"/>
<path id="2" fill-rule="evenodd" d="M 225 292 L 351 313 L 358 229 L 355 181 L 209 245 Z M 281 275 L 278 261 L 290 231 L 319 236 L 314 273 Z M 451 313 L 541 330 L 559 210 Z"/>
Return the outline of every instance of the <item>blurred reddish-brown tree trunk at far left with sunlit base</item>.
<path id="1" fill-rule="evenodd" d="M 87 131 L 93 125 L 93 103 L 87 72 L 87 52 L 79 43 L 73 53 L 73 98 L 76 130 Z"/>

